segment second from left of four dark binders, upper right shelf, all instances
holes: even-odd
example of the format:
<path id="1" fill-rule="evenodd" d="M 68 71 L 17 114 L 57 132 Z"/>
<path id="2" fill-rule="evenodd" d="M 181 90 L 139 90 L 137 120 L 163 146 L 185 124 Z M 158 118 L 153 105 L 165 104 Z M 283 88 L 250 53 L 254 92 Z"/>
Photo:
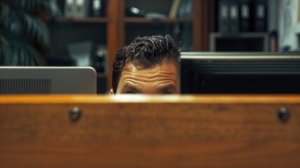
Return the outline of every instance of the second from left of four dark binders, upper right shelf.
<path id="1" fill-rule="evenodd" d="M 240 30 L 240 20 L 238 12 L 238 0 L 229 1 L 229 29 L 231 33 L 238 33 Z"/>

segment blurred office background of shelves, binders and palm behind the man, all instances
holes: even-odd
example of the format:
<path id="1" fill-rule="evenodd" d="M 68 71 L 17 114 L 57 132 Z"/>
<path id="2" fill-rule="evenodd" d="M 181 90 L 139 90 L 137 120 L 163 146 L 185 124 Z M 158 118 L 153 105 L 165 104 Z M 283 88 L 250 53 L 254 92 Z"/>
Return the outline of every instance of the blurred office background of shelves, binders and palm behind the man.
<path id="1" fill-rule="evenodd" d="M 297 52 L 299 0 L 1 0 L 1 66 L 93 66 L 98 91 L 136 36 L 187 51 Z"/>

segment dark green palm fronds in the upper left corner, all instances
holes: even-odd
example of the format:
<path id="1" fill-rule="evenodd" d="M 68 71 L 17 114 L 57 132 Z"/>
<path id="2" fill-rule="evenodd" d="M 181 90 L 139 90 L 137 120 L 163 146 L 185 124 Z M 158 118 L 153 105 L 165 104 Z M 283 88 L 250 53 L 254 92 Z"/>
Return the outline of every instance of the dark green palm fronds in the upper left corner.
<path id="1" fill-rule="evenodd" d="M 41 53 L 50 45 L 45 16 L 52 19 L 58 15 L 61 13 L 52 0 L 1 0 L 0 66 L 44 63 Z"/>

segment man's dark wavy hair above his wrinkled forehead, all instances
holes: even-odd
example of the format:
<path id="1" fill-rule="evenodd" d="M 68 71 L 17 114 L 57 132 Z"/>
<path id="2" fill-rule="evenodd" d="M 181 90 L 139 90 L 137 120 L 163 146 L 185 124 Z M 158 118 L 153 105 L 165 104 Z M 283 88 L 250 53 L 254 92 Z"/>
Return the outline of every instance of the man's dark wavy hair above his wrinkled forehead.
<path id="1" fill-rule="evenodd" d="M 122 48 L 113 61 L 113 92 L 117 92 L 117 85 L 124 66 L 131 62 L 137 69 L 150 69 L 162 62 L 178 64 L 182 47 L 173 41 L 171 36 L 143 36 L 137 37 L 129 45 Z"/>

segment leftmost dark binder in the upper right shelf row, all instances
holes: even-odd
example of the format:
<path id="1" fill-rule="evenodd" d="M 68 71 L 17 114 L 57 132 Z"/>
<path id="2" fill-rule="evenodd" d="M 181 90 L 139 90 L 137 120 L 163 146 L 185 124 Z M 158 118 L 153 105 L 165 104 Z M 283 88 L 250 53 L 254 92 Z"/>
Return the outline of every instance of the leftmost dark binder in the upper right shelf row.
<path id="1" fill-rule="evenodd" d="M 218 4 L 218 28 L 221 33 L 229 32 L 229 1 L 220 0 Z"/>

